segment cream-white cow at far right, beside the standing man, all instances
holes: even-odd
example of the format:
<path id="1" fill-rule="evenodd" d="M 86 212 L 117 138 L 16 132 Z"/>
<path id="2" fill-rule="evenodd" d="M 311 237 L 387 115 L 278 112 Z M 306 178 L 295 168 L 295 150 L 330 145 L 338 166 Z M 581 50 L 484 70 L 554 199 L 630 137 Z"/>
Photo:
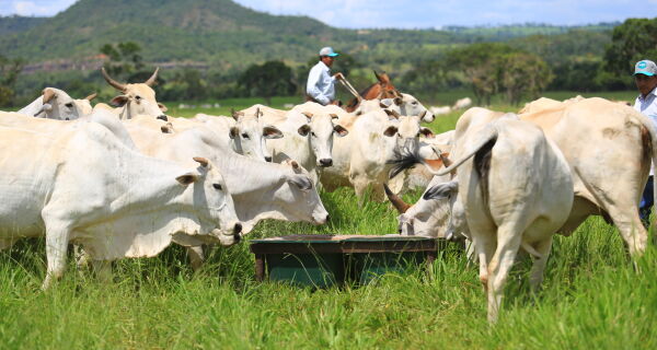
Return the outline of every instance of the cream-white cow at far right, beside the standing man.
<path id="1" fill-rule="evenodd" d="M 540 126 L 573 171 L 575 203 L 560 233 L 570 234 L 588 215 L 602 214 L 619 228 L 632 255 L 643 254 L 647 232 L 638 201 L 650 160 L 657 164 L 654 124 L 632 107 L 598 97 L 575 98 L 520 118 Z"/>

